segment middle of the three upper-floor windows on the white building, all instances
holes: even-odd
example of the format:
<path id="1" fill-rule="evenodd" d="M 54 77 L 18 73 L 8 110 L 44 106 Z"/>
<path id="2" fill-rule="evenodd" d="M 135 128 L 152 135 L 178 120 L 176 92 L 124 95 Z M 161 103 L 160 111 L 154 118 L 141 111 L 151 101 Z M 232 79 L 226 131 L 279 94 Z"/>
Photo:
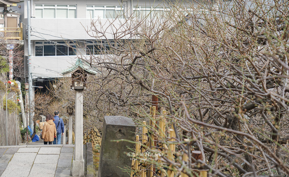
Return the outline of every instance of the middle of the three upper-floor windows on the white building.
<path id="1" fill-rule="evenodd" d="M 123 6 L 87 5 L 86 18 L 123 18 Z"/>

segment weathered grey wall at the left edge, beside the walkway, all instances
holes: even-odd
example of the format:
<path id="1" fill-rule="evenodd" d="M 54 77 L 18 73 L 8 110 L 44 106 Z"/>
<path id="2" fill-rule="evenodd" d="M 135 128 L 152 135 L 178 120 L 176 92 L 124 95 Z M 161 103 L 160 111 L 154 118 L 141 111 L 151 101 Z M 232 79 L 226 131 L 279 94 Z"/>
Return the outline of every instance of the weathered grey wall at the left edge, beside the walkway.
<path id="1" fill-rule="evenodd" d="M 0 73 L 0 81 L 5 82 L 5 75 Z M 3 99 L 5 99 L 6 91 L 1 90 L 0 92 L 0 146 L 6 146 L 6 111 L 3 108 Z M 8 98 L 13 96 L 15 93 L 9 93 Z M 11 98 L 12 99 L 12 98 Z M 22 141 L 20 135 L 20 115 L 18 112 L 12 112 L 11 114 L 8 111 L 8 146 L 16 145 L 16 138 L 17 138 L 17 145 Z M 16 125 L 17 122 L 17 125 Z"/>

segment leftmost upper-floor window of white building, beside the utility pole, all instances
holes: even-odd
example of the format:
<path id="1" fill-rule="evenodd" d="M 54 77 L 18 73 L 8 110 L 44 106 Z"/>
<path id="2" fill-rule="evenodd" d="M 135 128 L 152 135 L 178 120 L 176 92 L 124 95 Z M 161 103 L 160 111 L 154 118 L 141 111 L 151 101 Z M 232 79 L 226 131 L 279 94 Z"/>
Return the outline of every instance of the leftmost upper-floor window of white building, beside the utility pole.
<path id="1" fill-rule="evenodd" d="M 76 5 L 36 4 L 36 18 L 76 18 Z"/>

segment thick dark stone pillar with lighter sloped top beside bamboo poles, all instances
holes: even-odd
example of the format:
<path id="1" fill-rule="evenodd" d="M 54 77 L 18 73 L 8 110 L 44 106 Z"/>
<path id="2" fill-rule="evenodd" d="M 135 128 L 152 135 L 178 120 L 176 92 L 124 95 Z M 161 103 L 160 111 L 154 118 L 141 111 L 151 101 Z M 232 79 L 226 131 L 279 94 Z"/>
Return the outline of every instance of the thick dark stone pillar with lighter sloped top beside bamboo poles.
<path id="1" fill-rule="evenodd" d="M 131 167 L 131 153 L 129 148 L 134 144 L 126 141 L 114 142 L 111 140 L 135 140 L 135 124 L 131 118 L 123 116 L 105 116 L 102 131 L 101 150 L 99 158 L 98 177 L 127 177 L 127 172 L 121 168 Z"/>

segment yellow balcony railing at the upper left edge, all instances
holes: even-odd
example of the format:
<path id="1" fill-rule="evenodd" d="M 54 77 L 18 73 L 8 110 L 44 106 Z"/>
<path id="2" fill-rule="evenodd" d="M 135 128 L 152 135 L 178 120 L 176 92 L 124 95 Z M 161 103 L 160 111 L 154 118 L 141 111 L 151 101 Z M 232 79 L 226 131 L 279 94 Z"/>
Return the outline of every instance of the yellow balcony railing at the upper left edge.
<path id="1" fill-rule="evenodd" d="M 20 28 L 0 28 L 0 37 L 4 39 L 22 39 L 22 23 Z"/>

